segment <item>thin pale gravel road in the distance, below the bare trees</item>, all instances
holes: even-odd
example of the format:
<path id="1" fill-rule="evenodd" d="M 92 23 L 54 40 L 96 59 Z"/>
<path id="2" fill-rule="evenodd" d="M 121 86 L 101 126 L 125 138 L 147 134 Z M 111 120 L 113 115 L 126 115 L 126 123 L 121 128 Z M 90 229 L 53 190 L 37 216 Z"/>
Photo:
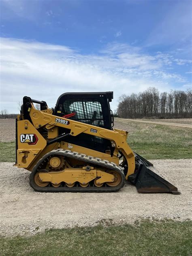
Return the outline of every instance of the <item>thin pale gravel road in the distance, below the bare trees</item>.
<path id="1" fill-rule="evenodd" d="M 168 126 L 177 126 L 177 127 L 183 127 L 183 128 L 192 128 L 192 124 L 180 124 L 180 123 L 169 123 L 169 122 L 156 122 L 156 121 L 149 121 L 147 119 L 128 119 L 128 118 L 115 118 L 116 121 L 128 124 L 131 122 L 139 122 L 139 123 L 148 123 L 148 124 L 163 124 Z"/>

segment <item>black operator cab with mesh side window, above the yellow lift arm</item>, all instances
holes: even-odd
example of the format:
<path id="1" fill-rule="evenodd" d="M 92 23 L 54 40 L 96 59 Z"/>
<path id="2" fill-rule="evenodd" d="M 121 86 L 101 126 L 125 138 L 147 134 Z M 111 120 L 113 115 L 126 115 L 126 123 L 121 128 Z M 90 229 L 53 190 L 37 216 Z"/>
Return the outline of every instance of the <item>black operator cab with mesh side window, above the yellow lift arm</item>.
<path id="1" fill-rule="evenodd" d="M 64 93 L 58 98 L 54 115 L 111 130 L 112 99 L 113 92 Z"/>

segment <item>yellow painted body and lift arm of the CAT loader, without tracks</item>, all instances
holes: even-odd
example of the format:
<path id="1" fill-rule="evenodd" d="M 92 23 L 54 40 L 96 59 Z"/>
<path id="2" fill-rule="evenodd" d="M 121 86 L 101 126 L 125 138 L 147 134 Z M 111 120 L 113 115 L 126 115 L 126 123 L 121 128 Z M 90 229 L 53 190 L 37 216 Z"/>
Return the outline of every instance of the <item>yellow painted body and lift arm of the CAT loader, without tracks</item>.
<path id="1" fill-rule="evenodd" d="M 58 148 L 73 149 L 73 151 L 77 151 L 86 155 L 92 155 L 101 159 L 106 159 L 109 160 L 109 162 L 114 162 L 115 164 L 119 165 L 118 152 L 120 150 L 128 162 L 128 172 L 126 174 L 126 179 L 128 179 L 129 175 L 134 173 L 134 153 L 126 142 L 128 132 L 119 129 L 107 130 L 105 128 L 95 127 L 90 124 L 80 123 L 63 117 L 59 117 L 60 122 L 55 122 L 58 117 L 52 114 L 53 112 L 51 109 L 40 111 L 35 109 L 33 104 L 28 109 L 28 112 L 30 114 L 32 124 L 28 120 L 20 120 L 17 122 L 17 167 L 32 171 L 33 166 L 39 159 L 42 158 L 42 156 L 47 154 L 49 151 Z M 19 120 L 19 116 L 17 119 Z M 58 127 L 69 129 L 70 136 L 77 136 L 80 133 L 85 133 L 108 139 L 111 141 L 112 146 L 115 148 L 113 156 L 111 156 L 107 151 L 106 153 L 101 153 L 99 151 L 66 143 L 65 141 L 55 142 L 51 145 L 47 145 L 46 139 L 44 139 L 43 136 L 38 132 L 38 129 L 41 127 L 45 127 L 47 129 L 48 139 L 53 139 L 58 136 Z M 92 129 L 95 130 L 94 133 L 91 132 Z M 36 134 L 38 137 L 36 145 L 21 143 L 21 134 Z M 25 147 L 23 147 L 23 144 L 25 144 Z"/>

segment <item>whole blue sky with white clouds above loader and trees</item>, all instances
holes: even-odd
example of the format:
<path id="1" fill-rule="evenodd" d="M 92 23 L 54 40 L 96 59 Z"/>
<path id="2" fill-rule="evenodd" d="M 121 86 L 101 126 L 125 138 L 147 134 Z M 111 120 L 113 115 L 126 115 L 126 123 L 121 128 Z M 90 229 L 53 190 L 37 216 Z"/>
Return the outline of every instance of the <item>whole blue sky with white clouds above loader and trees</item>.
<path id="1" fill-rule="evenodd" d="M 0 109 L 110 90 L 115 109 L 123 93 L 191 88 L 191 11 L 190 0 L 1 0 Z"/>

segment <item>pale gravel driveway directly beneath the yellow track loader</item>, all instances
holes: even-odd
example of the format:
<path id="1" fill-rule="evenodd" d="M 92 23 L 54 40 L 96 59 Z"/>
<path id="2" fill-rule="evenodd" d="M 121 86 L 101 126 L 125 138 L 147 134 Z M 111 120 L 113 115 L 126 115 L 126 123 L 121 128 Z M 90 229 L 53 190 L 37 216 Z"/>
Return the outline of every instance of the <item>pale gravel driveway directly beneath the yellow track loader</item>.
<path id="1" fill-rule="evenodd" d="M 0 233 L 32 235 L 47 228 L 133 223 L 140 218 L 191 219 L 192 160 L 152 160 L 182 194 L 139 194 L 126 186 L 115 193 L 39 193 L 30 172 L 0 163 Z"/>

